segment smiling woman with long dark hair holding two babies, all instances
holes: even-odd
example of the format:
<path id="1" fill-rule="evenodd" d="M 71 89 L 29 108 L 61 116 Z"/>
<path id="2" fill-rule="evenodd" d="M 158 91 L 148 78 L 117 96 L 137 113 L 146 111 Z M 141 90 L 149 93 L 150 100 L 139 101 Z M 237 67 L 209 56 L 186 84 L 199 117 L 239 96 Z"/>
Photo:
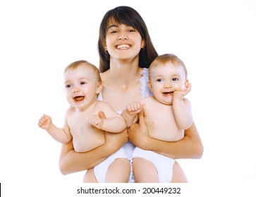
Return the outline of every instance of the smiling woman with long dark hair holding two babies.
<path id="1" fill-rule="evenodd" d="M 100 25 L 98 47 L 99 70 L 102 72 L 104 87 L 99 100 L 106 101 L 121 113 L 131 101 L 140 101 L 151 95 L 147 87 L 147 68 L 157 57 L 157 51 L 151 42 L 147 26 L 137 11 L 128 6 L 108 11 Z M 143 115 L 139 115 L 139 120 L 138 125 L 128 129 L 129 141 L 127 131 L 123 131 L 119 134 L 106 132 L 106 143 L 85 153 L 75 153 L 72 142 L 63 144 L 59 163 L 61 172 L 69 174 L 87 170 L 84 182 L 95 182 L 92 168 L 121 146 L 126 148 L 129 155 L 138 146 L 171 158 L 201 157 L 203 148 L 195 124 L 185 130 L 185 137 L 181 141 L 165 142 L 151 139 Z M 133 181 L 130 177 L 130 182 Z M 172 182 L 187 182 L 178 163 L 173 165 Z"/>

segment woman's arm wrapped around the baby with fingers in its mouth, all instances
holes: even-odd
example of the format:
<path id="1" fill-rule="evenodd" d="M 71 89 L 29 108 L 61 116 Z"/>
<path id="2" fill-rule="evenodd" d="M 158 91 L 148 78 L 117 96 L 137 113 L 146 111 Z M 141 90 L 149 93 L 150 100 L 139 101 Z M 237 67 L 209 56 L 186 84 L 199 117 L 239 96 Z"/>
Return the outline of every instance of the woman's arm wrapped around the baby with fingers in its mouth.
<path id="1" fill-rule="evenodd" d="M 185 136 L 180 141 L 160 141 L 150 138 L 143 114 L 138 115 L 139 124 L 133 124 L 128 131 L 128 138 L 135 146 L 174 159 L 202 157 L 204 148 L 195 123 L 185 130 Z"/>

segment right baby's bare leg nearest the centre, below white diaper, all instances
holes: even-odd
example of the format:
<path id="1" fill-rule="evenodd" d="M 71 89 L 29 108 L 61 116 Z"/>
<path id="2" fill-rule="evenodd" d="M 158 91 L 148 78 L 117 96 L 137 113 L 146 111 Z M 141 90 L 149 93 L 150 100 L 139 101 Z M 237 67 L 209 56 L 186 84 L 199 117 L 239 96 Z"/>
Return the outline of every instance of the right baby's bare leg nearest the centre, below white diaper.
<path id="1" fill-rule="evenodd" d="M 136 183 L 158 183 L 157 168 L 144 158 L 133 158 L 133 174 Z"/>

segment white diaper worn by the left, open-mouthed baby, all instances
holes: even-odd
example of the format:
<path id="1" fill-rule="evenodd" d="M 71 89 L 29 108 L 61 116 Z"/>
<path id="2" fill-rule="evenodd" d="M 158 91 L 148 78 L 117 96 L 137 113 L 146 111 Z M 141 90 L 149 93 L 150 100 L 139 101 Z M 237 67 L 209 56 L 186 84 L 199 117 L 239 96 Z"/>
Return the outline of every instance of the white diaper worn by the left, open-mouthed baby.
<path id="1" fill-rule="evenodd" d="M 102 163 L 99 163 L 94 167 L 94 172 L 95 172 L 95 177 L 97 179 L 97 182 L 99 183 L 104 183 L 105 182 L 105 177 L 106 177 L 106 171 L 109 168 L 109 165 L 114 162 L 116 158 L 127 158 L 128 155 L 124 148 L 120 148 L 116 153 L 113 155 L 110 155 L 106 160 L 102 161 Z"/>

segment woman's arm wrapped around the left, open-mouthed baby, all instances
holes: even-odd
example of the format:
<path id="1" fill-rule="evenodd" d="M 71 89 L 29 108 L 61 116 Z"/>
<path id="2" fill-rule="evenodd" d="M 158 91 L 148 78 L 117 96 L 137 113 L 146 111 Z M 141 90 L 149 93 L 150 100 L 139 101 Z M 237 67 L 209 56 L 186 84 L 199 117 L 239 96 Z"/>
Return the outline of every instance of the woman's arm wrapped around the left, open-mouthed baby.
<path id="1" fill-rule="evenodd" d="M 59 169 L 61 173 L 71 174 L 95 167 L 95 165 L 101 163 L 109 155 L 118 151 L 118 149 L 126 143 L 127 131 L 124 130 L 116 134 L 106 132 L 105 138 L 105 144 L 85 153 L 75 152 L 72 141 L 68 144 L 63 144 L 59 159 Z"/>

